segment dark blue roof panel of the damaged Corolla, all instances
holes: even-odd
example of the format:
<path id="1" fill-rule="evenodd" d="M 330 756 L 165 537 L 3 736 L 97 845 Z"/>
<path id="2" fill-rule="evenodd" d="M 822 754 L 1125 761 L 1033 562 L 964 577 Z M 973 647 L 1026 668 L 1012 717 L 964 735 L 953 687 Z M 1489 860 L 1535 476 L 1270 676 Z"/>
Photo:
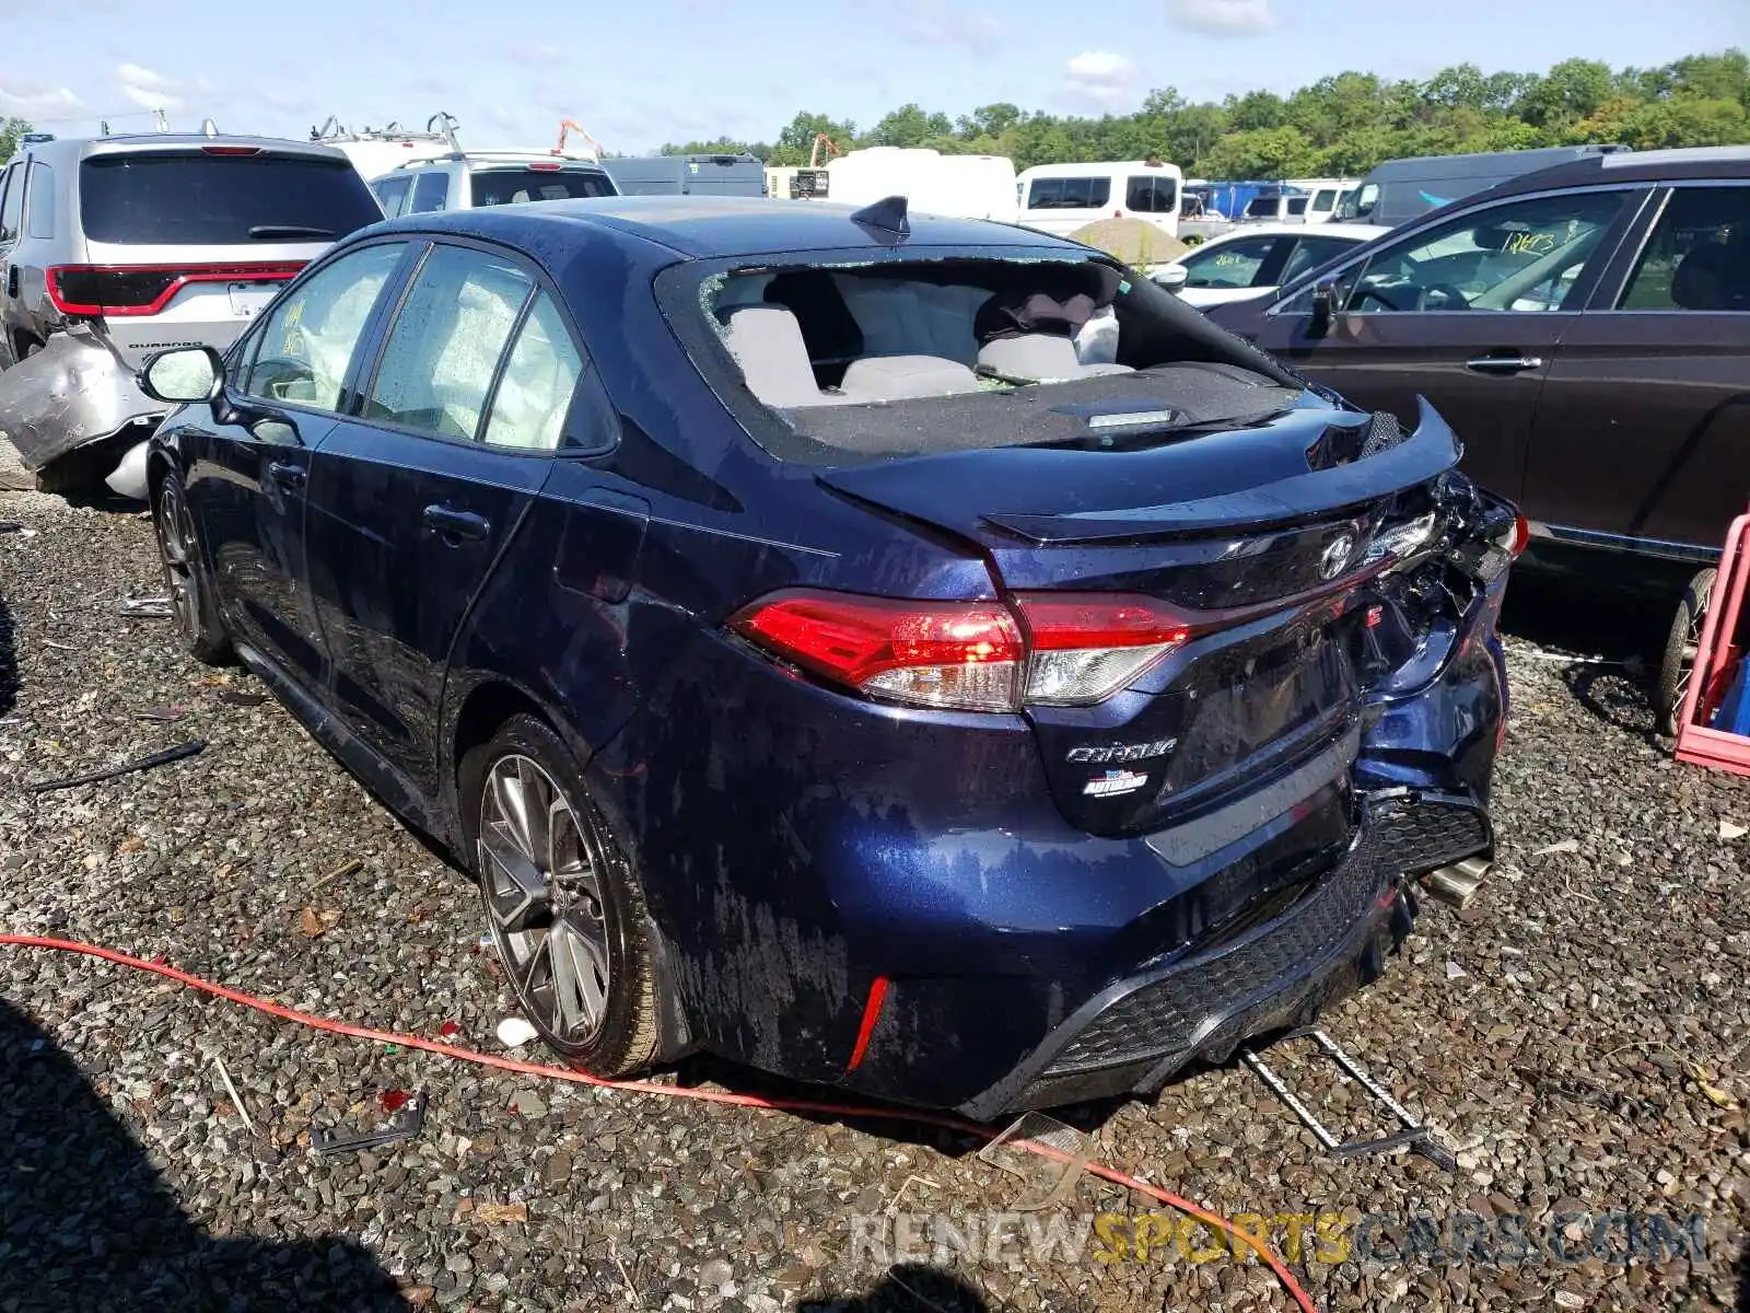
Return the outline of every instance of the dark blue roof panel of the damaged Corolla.
<path id="1" fill-rule="evenodd" d="M 551 236 L 565 224 L 642 238 L 688 259 L 721 256 L 779 256 L 800 250 L 872 252 L 896 245 L 891 233 L 856 224 L 850 205 L 828 201 L 784 201 L 756 196 L 602 196 L 576 201 L 490 205 L 396 219 L 394 229 L 455 231 L 511 243 Z M 1062 247 L 1087 254 L 1087 247 L 1036 233 L 1029 228 L 984 219 L 910 215 L 905 247 L 1017 247 L 1038 250 Z"/>

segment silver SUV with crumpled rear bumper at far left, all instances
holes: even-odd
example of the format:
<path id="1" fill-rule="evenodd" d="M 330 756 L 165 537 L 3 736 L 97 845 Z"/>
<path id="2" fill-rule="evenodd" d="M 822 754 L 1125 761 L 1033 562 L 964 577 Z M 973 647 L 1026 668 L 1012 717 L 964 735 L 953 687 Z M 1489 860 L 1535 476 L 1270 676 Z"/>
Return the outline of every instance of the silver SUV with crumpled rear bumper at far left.
<path id="1" fill-rule="evenodd" d="M 44 487 L 144 487 L 126 455 L 164 406 L 133 371 L 166 347 L 224 350 L 308 261 L 382 217 L 326 145 L 26 142 L 0 172 L 0 431 Z"/>

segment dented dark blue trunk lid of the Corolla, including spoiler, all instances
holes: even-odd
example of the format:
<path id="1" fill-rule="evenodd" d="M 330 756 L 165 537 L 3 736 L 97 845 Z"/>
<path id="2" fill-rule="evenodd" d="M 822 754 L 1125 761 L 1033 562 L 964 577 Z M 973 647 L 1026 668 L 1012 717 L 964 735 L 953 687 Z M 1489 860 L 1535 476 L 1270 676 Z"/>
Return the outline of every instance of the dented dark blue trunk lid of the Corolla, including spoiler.
<path id="1" fill-rule="evenodd" d="M 1426 404 L 1407 438 L 1390 417 L 1300 404 L 1132 450 L 984 448 L 817 478 L 976 544 L 1006 592 L 1146 593 L 1185 614 L 1190 641 L 1124 692 L 1026 713 L 1064 814 L 1138 833 L 1353 744 L 1370 653 L 1393 625 L 1412 641 L 1381 553 L 1458 455 Z"/>

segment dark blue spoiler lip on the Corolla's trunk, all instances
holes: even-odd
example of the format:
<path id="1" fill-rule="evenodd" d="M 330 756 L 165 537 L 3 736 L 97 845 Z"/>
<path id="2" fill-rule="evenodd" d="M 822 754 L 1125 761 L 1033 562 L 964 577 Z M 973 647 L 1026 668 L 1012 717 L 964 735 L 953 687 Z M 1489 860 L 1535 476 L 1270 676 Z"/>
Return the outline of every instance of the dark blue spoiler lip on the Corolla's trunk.
<path id="1" fill-rule="evenodd" d="M 1418 483 L 1426 483 L 1458 464 L 1463 448 L 1452 429 L 1428 404 L 1426 397 L 1416 397 L 1416 432 L 1396 446 L 1344 466 L 1314 469 L 1256 488 L 1158 506 L 1064 511 L 1059 515 L 999 511 L 982 518 L 1034 543 L 1102 543 L 1306 520 L 1344 506 L 1391 497 Z"/>

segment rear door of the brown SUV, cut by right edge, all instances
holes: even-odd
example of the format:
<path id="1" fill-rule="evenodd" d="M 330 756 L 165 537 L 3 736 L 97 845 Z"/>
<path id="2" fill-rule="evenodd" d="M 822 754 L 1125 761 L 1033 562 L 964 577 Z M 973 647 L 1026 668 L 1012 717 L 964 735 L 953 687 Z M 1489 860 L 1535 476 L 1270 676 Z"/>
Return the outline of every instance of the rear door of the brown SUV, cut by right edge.
<path id="1" fill-rule="evenodd" d="M 1554 537 L 1710 557 L 1750 499 L 1750 179 L 1673 184 L 1563 336 L 1526 513 Z"/>

